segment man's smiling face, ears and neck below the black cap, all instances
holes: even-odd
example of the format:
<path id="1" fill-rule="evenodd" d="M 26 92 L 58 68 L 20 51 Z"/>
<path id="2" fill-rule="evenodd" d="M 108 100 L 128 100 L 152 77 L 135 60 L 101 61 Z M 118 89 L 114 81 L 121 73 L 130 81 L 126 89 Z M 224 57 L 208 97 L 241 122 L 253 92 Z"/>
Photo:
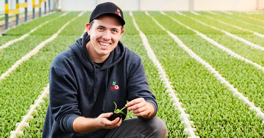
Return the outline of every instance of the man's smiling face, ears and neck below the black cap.
<path id="1" fill-rule="evenodd" d="M 91 59 L 108 57 L 110 52 L 115 49 L 118 40 L 121 39 L 121 23 L 117 17 L 101 15 L 94 19 L 92 27 L 86 24 L 87 33 L 90 35 L 88 53 Z M 105 59 L 106 59 L 105 58 Z"/>

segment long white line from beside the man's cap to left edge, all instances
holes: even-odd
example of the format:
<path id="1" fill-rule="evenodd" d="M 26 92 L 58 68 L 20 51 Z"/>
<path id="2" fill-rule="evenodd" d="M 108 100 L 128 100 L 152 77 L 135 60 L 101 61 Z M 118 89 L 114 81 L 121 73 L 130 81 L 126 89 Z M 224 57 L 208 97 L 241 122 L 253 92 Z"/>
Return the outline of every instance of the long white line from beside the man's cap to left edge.
<path id="1" fill-rule="evenodd" d="M 23 61 L 29 60 L 29 58 L 31 58 L 32 56 L 36 55 L 41 48 L 43 48 L 47 43 L 51 42 L 52 40 L 54 40 L 58 34 L 72 21 L 74 21 L 75 19 L 77 19 L 78 17 L 80 17 L 83 13 L 80 13 L 77 17 L 73 18 L 71 21 L 68 21 L 65 25 L 63 25 L 57 33 L 53 34 L 50 38 L 48 38 L 47 40 L 41 42 L 41 44 L 37 45 L 36 48 L 34 48 L 33 50 L 31 50 L 28 54 L 26 54 L 25 56 L 23 56 L 21 59 L 17 60 L 16 63 L 14 65 L 12 65 L 11 68 L 9 68 L 5 73 L 3 73 L 0 76 L 0 81 L 2 79 L 4 79 L 5 77 L 9 76 L 9 74 L 14 71 L 19 65 L 21 65 L 23 63 Z"/>

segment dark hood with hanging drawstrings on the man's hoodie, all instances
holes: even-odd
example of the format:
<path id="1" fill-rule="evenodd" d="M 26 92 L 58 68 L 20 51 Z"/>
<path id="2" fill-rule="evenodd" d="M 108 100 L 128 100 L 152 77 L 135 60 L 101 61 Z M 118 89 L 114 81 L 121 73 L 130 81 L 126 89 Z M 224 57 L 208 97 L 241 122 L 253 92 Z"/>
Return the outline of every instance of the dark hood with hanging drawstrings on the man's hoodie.
<path id="1" fill-rule="evenodd" d="M 109 56 L 107 57 L 106 61 L 103 63 L 102 67 L 99 67 L 99 65 L 95 64 L 86 48 L 86 44 L 90 41 L 90 36 L 85 32 L 83 34 L 83 38 L 79 38 L 76 40 L 75 44 L 70 45 L 69 47 L 72 48 L 72 50 L 76 53 L 78 58 L 80 59 L 81 63 L 84 65 L 84 67 L 89 71 L 89 72 L 94 72 L 94 102 L 96 101 L 97 95 L 98 95 L 98 90 L 99 90 L 99 84 L 97 84 L 98 78 L 102 76 L 97 76 L 96 72 L 98 71 L 103 71 L 103 76 L 105 78 L 105 86 L 100 85 L 100 87 L 104 87 L 105 89 L 105 94 L 104 94 L 104 100 L 103 100 L 103 111 L 105 110 L 105 104 L 106 104 L 106 96 L 107 96 L 107 83 L 108 83 L 108 69 L 115 66 L 122 57 L 124 56 L 125 53 L 125 46 L 122 44 L 121 41 L 118 41 L 117 46 L 115 49 L 110 52 Z M 101 80 L 102 81 L 102 80 Z M 102 88 L 100 88 L 102 90 Z"/>

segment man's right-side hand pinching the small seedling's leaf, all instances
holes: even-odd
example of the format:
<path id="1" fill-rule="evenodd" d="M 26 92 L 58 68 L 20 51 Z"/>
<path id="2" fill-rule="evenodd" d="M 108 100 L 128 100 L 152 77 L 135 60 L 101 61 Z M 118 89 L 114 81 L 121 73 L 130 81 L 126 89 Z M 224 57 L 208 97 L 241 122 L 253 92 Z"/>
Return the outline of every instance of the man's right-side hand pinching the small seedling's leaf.
<path id="1" fill-rule="evenodd" d="M 146 102 L 144 98 L 137 98 L 126 104 L 127 110 L 132 111 L 135 116 L 149 118 L 154 113 L 154 107 Z"/>

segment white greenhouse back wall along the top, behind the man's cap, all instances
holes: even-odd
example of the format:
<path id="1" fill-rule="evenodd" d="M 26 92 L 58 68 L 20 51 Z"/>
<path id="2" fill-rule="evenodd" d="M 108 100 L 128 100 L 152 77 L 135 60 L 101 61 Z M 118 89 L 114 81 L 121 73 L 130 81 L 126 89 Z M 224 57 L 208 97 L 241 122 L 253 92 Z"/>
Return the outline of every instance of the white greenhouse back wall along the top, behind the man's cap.
<path id="1" fill-rule="evenodd" d="M 38 4 L 38 0 L 35 0 Z M 54 8 L 54 1 L 51 1 L 51 9 Z M 62 11 L 92 11 L 96 5 L 109 0 L 61 0 Z M 259 2 L 262 1 L 262 2 Z M 16 0 L 8 0 L 9 8 L 14 9 Z M 20 3 L 25 0 L 19 0 Z M 123 11 L 252 11 L 258 9 L 258 3 L 261 3 L 263 10 L 263 0 L 111 0 Z M 47 0 L 48 3 L 48 0 Z M 42 3 L 44 7 L 44 3 Z M 41 8 L 44 11 L 44 8 Z M 0 12 L 5 11 L 5 0 L 0 0 Z M 20 9 L 24 11 L 24 9 Z M 28 11 L 32 11 L 32 0 L 28 0 Z M 38 11 L 38 8 L 36 8 Z M 47 6 L 48 11 L 48 6 Z"/>

